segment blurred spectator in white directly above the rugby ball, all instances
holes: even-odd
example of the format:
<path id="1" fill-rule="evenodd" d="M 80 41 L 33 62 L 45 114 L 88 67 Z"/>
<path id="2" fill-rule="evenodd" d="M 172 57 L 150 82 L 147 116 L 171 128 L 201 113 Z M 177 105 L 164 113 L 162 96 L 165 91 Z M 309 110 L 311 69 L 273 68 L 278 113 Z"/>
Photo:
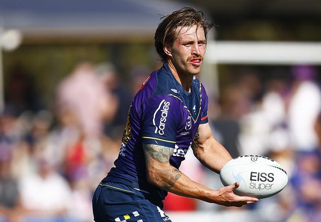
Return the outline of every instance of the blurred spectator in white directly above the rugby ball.
<path id="1" fill-rule="evenodd" d="M 267 155 L 271 149 L 288 148 L 283 86 L 281 79 L 268 81 L 266 92 L 262 95 L 259 103 L 256 103 L 252 110 L 240 119 L 239 146 L 241 155 Z M 280 141 L 283 144 L 275 144 L 279 141 L 271 140 L 275 136 L 279 136 L 279 139 L 283 140 L 283 142 Z"/>

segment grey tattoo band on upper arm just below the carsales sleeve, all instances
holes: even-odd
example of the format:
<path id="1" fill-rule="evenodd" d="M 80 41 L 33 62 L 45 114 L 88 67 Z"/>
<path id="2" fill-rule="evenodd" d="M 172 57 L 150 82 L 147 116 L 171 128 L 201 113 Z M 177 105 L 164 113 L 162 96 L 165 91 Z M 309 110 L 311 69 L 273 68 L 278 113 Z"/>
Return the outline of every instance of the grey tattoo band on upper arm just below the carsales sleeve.
<path id="1" fill-rule="evenodd" d="M 174 152 L 174 148 L 164 147 L 154 144 L 143 144 L 146 161 L 156 160 L 158 162 L 169 162 L 170 156 Z"/>

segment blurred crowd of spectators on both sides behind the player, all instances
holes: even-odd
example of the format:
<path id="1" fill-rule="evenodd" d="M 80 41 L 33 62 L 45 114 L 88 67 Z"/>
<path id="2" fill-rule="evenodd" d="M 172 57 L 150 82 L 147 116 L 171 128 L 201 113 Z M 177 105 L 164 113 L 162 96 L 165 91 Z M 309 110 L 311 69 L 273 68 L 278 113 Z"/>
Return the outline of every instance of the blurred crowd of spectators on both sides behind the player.
<path id="1" fill-rule="evenodd" d="M 0 116 L 0 222 L 92 221 L 92 193 L 118 156 L 129 105 L 151 71 L 135 67 L 126 85 L 110 63 L 81 63 L 56 87 L 52 109 L 41 106 L 28 81 L 13 75 Z M 288 70 L 287 78 L 259 76 L 236 75 L 220 95 L 209 95 L 213 134 L 233 157 L 265 155 L 285 168 L 286 188 L 247 206 L 262 215 L 259 221 L 320 222 L 317 69 L 302 65 Z M 191 155 L 181 170 L 211 188 L 222 186 Z M 174 194 L 165 200 L 167 211 L 229 209 Z"/>

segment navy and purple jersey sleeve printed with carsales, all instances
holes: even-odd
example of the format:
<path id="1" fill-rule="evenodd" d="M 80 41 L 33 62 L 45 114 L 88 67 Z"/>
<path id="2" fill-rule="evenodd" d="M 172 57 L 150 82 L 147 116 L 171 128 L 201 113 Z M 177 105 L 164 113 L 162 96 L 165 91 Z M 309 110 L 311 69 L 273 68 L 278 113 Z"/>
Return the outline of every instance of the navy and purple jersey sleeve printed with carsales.
<path id="1" fill-rule="evenodd" d="M 174 148 L 182 111 L 176 98 L 154 96 L 142 106 L 142 143 Z"/>

